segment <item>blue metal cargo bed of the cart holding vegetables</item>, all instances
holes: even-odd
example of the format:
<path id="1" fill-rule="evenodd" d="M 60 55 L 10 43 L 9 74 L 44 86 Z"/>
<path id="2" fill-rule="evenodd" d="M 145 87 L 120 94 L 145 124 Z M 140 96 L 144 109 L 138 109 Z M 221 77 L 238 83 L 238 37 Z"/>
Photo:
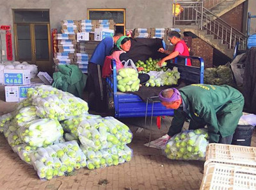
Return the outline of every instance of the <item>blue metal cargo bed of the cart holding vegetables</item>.
<path id="1" fill-rule="evenodd" d="M 204 59 L 195 56 L 179 56 L 185 59 L 185 63 L 168 63 L 168 68 L 177 67 L 180 72 L 180 79 L 190 84 L 204 83 Z M 186 65 L 187 59 L 195 59 L 200 62 L 200 67 L 189 67 Z M 173 116 L 172 109 L 166 109 L 160 102 L 143 102 L 138 95 L 132 93 L 122 93 L 117 91 L 116 63 L 113 59 L 113 75 L 107 79 L 108 96 L 113 97 L 115 118 L 145 117 L 147 116 Z M 147 112 L 146 112 L 147 107 Z"/>

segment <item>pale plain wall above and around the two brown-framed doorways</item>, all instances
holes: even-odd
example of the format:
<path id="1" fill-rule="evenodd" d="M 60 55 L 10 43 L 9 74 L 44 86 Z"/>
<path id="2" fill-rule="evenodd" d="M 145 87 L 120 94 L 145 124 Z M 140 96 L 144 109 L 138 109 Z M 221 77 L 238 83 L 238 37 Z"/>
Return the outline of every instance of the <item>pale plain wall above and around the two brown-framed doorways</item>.
<path id="1" fill-rule="evenodd" d="M 60 31 L 60 20 L 86 19 L 88 8 L 125 8 L 126 28 L 170 28 L 172 27 L 173 0 L 0 0 L 0 26 L 13 27 L 12 9 L 49 9 L 51 28 Z M 13 30 L 12 30 L 13 33 Z M 0 31 L 6 51 L 5 32 Z M 12 36 L 13 38 L 13 36 Z M 13 40 L 14 47 L 14 40 Z M 13 49 L 13 58 L 15 52 Z M 6 60 L 6 56 L 3 56 Z"/>

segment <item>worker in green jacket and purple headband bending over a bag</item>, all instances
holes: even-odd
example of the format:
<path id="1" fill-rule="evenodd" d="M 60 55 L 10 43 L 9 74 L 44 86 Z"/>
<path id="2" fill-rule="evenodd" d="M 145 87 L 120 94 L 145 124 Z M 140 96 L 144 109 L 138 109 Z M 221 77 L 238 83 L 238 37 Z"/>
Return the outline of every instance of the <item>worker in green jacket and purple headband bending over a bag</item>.
<path id="1" fill-rule="evenodd" d="M 189 129 L 207 125 L 210 143 L 231 144 L 237 123 L 243 115 L 244 97 L 228 86 L 191 84 L 169 88 L 159 93 L 163 106 L 174 109 L 168 135 L 181 132 L 185 120 L 190 119 Z"/>

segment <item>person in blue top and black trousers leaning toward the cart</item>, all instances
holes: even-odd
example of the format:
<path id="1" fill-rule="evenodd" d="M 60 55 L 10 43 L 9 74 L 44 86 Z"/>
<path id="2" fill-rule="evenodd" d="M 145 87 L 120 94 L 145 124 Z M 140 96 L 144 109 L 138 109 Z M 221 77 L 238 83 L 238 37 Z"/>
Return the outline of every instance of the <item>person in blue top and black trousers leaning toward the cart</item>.
<path id="1" fill-rule="evenodd" d="M 101 72 L 104 64 L 104 59 L 109 56 L 116 41 L 123 36 L 122 33 L 116 33 L 113 37 L 104 38 L 95 48 L 92 57 L 88 63 L 88 106 L 89 110 L 99 113 L 106 112 L 106 81 L 102 79 Z"/>

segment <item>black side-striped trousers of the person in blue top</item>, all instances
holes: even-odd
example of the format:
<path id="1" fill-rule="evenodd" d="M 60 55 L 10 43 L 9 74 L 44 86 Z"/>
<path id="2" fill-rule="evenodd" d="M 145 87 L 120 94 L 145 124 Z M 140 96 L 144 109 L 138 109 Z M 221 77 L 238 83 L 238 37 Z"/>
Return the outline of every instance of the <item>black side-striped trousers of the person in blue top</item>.
<path id="1" fill-rule="evenodd" d="M 101 77 L 102 67 L 95 63 L 88 64 L 88 106 L 90 111 L 107 111 L 106 80 Z"/>

